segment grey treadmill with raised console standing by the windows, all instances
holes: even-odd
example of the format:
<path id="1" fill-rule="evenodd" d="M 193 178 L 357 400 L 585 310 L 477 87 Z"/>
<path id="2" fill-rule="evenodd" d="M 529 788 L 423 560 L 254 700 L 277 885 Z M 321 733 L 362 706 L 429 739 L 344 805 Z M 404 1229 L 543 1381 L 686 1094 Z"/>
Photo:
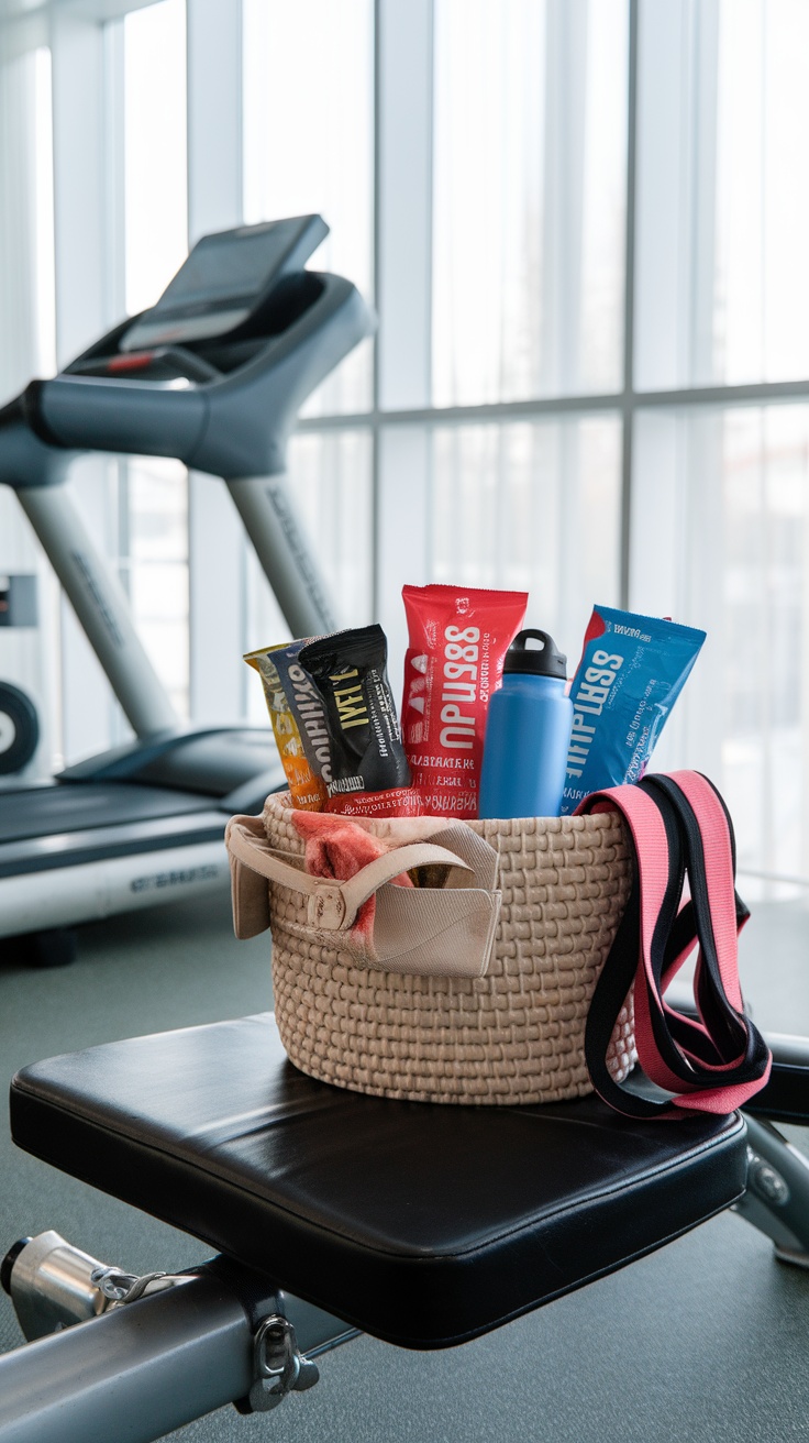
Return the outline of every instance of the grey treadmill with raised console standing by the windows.
<path id="1" fill-rule="evenodd" d="M 283 784 L 268 727 L 180 724 L 65 479 L 81 452 L 221 476 L 293 636 L 333 631 L 283 475 L 301 403 L 375 326 L 350 281 L 304 268 L 327 231 L 307 215 L 203 237 L 154 307 L 0 410 L 0 482 L 136 733 L 52 782 L 0 791 L 0 939 L 16 939 L 0 955 L 56 965 L 75 924 L 218 886 L 226 818 Z"/>

